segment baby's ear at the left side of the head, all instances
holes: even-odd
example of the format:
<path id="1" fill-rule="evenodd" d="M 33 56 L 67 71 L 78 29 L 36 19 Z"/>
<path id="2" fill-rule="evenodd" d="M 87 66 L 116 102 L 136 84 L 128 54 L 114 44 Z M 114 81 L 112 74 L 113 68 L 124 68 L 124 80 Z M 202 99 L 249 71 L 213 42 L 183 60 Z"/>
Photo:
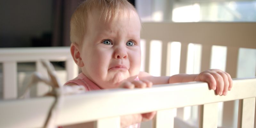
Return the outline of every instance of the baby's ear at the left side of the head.
<path id="1" fill-rule="evenodd" d="M 78 49 L 78 45 L 76 43 L 71 43 L 70 45 L 70 52 L 73 57 L 73 60 L 76 62 L 78 67 L 83 67 L 84 62 L 82 61 L 80 51 Z"/>

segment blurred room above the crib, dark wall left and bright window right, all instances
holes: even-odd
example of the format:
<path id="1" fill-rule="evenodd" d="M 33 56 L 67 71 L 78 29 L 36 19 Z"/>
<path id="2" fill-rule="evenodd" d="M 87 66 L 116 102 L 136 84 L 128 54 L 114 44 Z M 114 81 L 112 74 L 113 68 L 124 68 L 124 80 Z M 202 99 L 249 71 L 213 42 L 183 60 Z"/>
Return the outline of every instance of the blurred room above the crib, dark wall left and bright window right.
<path id="1" fill-rule="evenodd" d="M 0 0 L 0 47 L 69 46 L 83 0 Z M 256 0 L 130 0 L 143 22 L 255 22 Z"/>

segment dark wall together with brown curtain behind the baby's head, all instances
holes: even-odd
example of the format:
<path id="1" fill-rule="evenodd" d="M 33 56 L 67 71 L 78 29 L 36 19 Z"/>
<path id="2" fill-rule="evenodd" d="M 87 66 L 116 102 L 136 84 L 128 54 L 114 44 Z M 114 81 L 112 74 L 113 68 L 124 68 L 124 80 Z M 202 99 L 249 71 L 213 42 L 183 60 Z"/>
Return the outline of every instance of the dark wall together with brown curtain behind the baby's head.
<path id="1" fill-rule="evenodd" d="M 82 1 L 0 0 L 0 47 L 69 46 L 70 18 Z"/>

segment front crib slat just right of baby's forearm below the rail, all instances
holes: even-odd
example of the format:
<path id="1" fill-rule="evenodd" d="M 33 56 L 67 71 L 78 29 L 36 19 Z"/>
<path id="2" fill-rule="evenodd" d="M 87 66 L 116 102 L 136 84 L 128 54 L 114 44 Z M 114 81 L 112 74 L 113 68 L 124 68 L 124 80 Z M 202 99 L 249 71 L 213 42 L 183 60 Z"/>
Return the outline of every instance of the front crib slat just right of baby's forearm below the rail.
<path id="1" fill-rule="evenodd" d="M 158 110 L 154 120 L 153 128 L 173 128 L 174 109 Z"/>

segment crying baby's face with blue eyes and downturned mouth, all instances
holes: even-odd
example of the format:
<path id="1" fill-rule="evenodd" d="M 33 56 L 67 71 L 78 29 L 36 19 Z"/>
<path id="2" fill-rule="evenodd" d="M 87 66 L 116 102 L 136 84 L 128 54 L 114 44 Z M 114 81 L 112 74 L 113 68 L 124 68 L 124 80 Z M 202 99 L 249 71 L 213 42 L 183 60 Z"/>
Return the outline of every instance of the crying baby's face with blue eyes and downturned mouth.
<path id="1" fill-rule="evenodd" d="M 88 28 L 80 49 L 83 73 L 101 88 L 116 88 L 133 81 L 140 72 L 140 19 L 132 12 L 115 22 L 89 15 Z"/>

